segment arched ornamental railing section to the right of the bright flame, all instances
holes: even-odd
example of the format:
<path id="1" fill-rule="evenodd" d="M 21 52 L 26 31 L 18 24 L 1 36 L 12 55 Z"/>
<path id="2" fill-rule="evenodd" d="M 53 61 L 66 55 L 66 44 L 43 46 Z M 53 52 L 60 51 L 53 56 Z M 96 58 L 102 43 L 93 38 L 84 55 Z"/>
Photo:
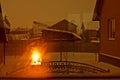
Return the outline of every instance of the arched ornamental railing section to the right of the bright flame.
<path id="1" fill-rule="evenodd" d="M 42 66 L 48 66 L 49 72 L 52 73 L 106 73 L 110 70 L 105 70 L 99 67 L 95 67 L 90 64 L 73 62 L 73 61 L 50 61 L 43 62 Z"/>

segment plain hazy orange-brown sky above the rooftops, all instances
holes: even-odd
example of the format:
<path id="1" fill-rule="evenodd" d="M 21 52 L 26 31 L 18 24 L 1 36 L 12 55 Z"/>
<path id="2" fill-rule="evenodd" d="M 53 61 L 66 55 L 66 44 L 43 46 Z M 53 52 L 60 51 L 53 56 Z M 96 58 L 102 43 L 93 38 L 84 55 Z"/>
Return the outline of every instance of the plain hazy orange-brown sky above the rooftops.
<path id="1" fill-rule="evenodd" d="M 52 25 L 73 15 L 79 17 L 83 15 L 82 20 L 90 21 L 96 0 L 0 0 L 0 2 L 3 15 L 7 16 L 12 27 L 32 27 L 33 21 Z"/>

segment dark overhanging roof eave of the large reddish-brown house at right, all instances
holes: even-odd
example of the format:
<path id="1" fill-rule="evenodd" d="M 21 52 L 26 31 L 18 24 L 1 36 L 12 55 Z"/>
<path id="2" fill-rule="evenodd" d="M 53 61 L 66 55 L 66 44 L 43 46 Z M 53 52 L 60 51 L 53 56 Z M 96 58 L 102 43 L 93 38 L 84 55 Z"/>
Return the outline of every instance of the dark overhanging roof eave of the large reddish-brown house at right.
<path id="1" fill-rule="evenodd" d="M 93 13 L 93 21 L 99 21 L 104 0 L 97 0 Z"/>

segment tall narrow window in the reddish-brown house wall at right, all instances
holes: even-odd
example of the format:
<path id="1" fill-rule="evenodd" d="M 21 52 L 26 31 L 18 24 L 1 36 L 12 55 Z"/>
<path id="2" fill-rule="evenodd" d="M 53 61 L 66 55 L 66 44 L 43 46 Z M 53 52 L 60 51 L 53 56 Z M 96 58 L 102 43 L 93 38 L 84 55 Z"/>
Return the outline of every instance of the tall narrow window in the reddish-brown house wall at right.
<path id="1" fill-rule="evenodd" d="M 108 36 L 109 40 L 115 40 L 115 19 L 111 18 L 108 20 Z"/>

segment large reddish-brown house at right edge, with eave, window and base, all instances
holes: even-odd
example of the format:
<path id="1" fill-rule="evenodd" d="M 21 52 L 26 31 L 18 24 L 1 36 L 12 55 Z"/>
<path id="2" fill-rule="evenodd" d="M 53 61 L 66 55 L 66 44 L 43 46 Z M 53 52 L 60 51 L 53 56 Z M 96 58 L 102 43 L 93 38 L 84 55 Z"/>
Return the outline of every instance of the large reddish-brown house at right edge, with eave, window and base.
<path id="1" fill-rule="evenodd" d="M 93 20 L 100 21 L 99 61 L 120 67 L 120 0 L 97 0 Z"/>

